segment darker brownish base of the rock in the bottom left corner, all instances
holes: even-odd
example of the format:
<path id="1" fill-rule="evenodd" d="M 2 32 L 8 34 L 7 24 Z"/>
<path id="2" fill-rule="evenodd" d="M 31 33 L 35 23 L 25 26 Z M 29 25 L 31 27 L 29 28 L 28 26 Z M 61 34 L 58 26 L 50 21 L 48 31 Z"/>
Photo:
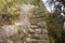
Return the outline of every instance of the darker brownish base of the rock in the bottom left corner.
<path id="1" fill-rule="evenodd" d="M 18 33 L 5 38 L 4 40 L 0 40 L 0 43 L 22 43 L 21 37 Z"/>

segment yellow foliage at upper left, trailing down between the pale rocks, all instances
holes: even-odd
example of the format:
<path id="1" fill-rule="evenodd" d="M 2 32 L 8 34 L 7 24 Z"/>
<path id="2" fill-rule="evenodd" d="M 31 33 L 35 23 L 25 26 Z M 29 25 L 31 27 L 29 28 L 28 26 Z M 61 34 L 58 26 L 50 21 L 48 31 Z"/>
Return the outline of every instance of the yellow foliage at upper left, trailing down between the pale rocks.
<path id="1" fill-rule="evenodd" d="M 21 14 L 21 11 L 16 8 L 18 3 L 17 0 L 0 0 L 0 26 L 14 25 L 15 19 L 17 19 Z M 14 26 L 17 28 L 20 35 L 23 39 L 25 35 L 22 27 L 17 25 Z"/>

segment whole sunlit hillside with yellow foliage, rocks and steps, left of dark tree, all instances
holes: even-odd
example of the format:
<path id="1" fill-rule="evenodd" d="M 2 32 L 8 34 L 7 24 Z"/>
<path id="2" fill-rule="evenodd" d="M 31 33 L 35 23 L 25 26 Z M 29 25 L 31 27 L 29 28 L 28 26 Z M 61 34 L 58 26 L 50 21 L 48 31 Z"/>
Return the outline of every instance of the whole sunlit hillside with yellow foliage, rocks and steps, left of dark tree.
<path id="1" fill-rule="evenodd" d="M 0 43 L 49 43 L 48 14 L 41 0 L 0 0 Z"/>

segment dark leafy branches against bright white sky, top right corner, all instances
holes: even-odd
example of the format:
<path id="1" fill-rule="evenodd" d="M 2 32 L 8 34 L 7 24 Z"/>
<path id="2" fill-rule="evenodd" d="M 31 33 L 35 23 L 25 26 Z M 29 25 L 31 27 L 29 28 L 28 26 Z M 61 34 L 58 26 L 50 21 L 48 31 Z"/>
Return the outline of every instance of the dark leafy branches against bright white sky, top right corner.
<path id="1" fill-rule="evenodd" d="M 64 23 L 65 22 L 65 0 L 49 0 L 49 5 L 50 8 L 53 6 L 53 10 L 51 11 L 53 13 L 55 12 L 57 14 L 57 17 L 60 17 L 62 23 Z"/>

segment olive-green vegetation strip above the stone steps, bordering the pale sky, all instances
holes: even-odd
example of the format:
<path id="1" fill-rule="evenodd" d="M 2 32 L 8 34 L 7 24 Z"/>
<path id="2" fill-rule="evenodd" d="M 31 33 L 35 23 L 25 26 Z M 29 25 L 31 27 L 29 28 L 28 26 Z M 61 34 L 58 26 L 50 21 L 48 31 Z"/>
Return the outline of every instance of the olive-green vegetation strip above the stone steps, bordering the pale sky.
<path id="1" fill-rule="evenodd" d="M 42 2 L 42 0 L 22 0 L 22 4 L 31 4 L 36 5 L 40 9 L 40 11 L 43 13 L 44 17 L 49 16 L 48 11 L 46 10 L 46 6 Z"/>

